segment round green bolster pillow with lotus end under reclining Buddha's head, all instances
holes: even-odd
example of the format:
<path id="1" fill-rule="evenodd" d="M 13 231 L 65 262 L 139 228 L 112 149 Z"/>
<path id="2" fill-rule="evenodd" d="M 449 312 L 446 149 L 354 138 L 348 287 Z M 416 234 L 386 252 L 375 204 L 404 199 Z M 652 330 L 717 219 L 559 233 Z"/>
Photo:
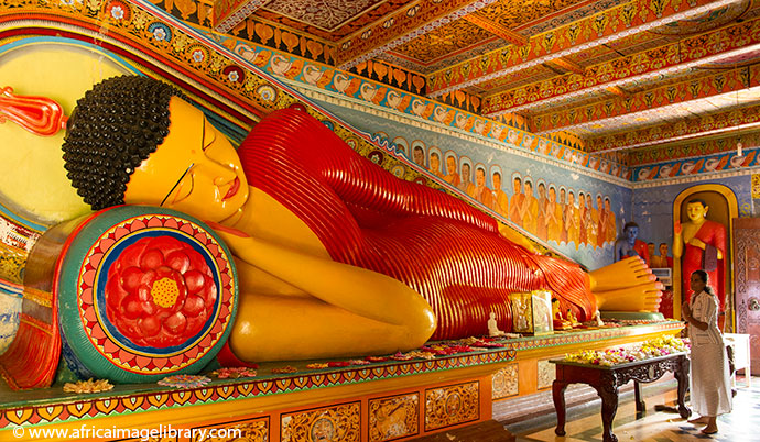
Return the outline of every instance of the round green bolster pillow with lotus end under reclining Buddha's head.
<path id="1" fill-rule="evenodd" d="M 86 218 L 56 276 L 64 356 L 80 375 L 134 383 L 197 373 L 235 321 L 231 254 L 174 210 L 120 206 Z"/>

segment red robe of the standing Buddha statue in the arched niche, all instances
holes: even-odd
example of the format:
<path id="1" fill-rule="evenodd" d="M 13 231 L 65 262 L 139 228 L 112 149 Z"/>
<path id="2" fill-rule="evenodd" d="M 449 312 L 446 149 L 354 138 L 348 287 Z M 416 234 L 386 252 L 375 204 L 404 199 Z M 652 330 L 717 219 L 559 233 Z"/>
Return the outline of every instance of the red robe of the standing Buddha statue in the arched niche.
<path id="1" fill-rule="evenodd" d="M 714 270 L 707 272 L 707 276 L 709 278 L 709 286 L 717 291 L 720 311 L 724 311 L 726 309 L 726 253 L 728 253 L 726 250 L 726 228 L 719 222 L 705 220 L 694 237 L 723 253 L 723 259 L 717 262 L 717 267 Z M 702 248 L 690 244 L 684 245 L 681 275 L 683 277 L 684 294 L 687 296 L 686 299 L 691 299 L 692 296 L 690 287 L 692 273 L 699 269 L 706 270 L 704 256 L 705 251 Z"/>

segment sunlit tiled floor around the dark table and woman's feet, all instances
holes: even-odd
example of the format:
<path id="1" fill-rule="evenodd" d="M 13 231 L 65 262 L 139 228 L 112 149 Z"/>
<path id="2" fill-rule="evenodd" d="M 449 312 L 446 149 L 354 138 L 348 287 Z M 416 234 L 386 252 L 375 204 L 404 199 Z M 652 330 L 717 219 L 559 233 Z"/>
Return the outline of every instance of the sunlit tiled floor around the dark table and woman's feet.
<path id="1" fill-rule="evenodd" d="M 760 378 L 753 378 L 751 388 L 737 388 L 734 398 L 734 411 L 718 418 L 719 432 L 704 435 L 701 427 L 694 427 L 677 413 L 654 411 L 658 404 L 675 404 L 674 390 L 645 397 L 647 412 L 641 419 L 636 419 L 636 408 L 631 398 L 618 406 L 618 412 L 612 423 L 612 431 L 620 442 L 677 442 L 695 440 L 715 440 L 721 442 L 760 441 Z M 566 435 L 554 434 L 556 418 L 553 420 L 538 419 L 531 428 L 531 422 L 508 426 L 507 429 L 515 434 L 518 442 L 556 441 L 579 442 L 601 441 L 601 417 L 599 402 L 595 401 L 582 410 L 568 410 Z"/>

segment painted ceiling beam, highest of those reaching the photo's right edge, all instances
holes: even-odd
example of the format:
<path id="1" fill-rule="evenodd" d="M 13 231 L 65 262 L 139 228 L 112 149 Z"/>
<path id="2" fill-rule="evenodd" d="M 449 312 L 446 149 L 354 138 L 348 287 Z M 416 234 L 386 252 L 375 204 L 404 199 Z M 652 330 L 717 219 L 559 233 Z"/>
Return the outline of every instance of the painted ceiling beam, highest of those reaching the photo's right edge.
<path id="1" fill-rule="evenodd" d="M 694 67 L 760 49 L 760 18 L 736 23 L 665 46 L 590 66 L 583 75 L 569 74 L 484 98 L 490 118 L 589 97 L 609 87 L 651 81 Z"/>

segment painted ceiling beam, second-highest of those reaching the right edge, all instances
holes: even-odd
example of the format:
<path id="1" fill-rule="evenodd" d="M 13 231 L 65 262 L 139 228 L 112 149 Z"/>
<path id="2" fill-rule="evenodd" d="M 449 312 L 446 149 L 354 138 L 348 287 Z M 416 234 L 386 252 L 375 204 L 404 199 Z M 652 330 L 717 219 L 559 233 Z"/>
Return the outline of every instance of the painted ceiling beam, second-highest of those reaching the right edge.
<path id="1" fill-rule="evenodd" d="M 636 119 L 637 114 L 645 117 L 645 112 L 658 111 L 666 106 L 716 97 L 760 85 L 760 65 L 708 73 L 712 75 L 625 95 L 611 100 L 538 113 L 533 117 L 535 133 L 544 135 L 557 131 L 584 130 L 599 123 L 609 124 L 615 121 L 622 123 L 625 120 Z"/>

